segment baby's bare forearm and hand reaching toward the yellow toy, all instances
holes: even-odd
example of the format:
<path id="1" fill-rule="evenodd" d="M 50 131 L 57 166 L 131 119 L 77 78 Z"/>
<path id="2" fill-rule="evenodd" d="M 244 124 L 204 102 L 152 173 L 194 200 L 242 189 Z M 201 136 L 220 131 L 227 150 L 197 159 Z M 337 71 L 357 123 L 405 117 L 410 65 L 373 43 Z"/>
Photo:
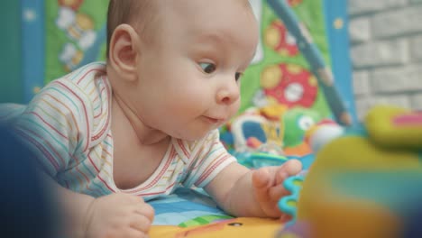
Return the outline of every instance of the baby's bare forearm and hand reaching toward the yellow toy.
<path id="1" fill-rule="evenodd" d="M 282 182 L 300 169 L 298 160 L 290 160 L 280 167 L 257 170 L 246 169 L 234 162 L 223 169 L 205 189 L 232 215 L 280 217 L 282 214 L 277 203 L 280 197 L 288 194 Z"/>

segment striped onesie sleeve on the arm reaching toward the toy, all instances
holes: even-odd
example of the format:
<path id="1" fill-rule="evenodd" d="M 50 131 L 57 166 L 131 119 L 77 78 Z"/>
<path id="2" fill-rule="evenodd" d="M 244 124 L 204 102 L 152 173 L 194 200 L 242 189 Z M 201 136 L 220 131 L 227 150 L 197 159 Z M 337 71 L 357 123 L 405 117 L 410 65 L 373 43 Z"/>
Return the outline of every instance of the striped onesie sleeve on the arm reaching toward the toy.
<path id="1" fill-rule="evenodd" d="M 204 142 L 198 144 L 200 148 L 194 149 L 197 156 L 189 164 L 188 176 L 183 183 L 187 188 L 193 185 L 197 188 L 206 187 L 227 165 L 237 161 L 220 142 L 218 130 L 209 133 Z"/>

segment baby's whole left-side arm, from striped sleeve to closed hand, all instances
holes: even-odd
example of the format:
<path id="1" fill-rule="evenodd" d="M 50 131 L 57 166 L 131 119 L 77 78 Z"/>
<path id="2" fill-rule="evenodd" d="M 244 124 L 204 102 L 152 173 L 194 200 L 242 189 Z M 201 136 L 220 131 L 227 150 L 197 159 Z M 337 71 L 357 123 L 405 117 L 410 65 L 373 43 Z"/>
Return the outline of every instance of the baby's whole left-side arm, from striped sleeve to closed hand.
<path id="1" fill-rule="evenodd" d="M 43 178 L 57 192 L 65 237 L 145 237 L 153 218 L 152 207 L 142 197 L 112 194 L 89 197 L 60 186 L 55 180 L 87 153 L 92 128 L 89 98 L 73 81 L 59 79 L 44 87 L 17 116 L 17 136 L 34 152 Z M 36 157 L 36 159 L 35 159 Z"/>

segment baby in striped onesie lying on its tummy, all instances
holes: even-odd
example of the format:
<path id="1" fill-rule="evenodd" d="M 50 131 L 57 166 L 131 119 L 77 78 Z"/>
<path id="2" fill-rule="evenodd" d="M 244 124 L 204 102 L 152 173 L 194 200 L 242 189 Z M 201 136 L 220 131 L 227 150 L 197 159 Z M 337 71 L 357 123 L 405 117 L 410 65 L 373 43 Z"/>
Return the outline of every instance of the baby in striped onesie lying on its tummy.
<path id="1" fill-rule="evenodd" d="M 225 212 L 281 217 L 298 160 L 249 170 L 219 142 L 258 42 L 248 0 L 111 0 L 107 60 L 52 81 L 15 120 L 72 237 L 146 237 L 145 201 L 205 188 Z"/>

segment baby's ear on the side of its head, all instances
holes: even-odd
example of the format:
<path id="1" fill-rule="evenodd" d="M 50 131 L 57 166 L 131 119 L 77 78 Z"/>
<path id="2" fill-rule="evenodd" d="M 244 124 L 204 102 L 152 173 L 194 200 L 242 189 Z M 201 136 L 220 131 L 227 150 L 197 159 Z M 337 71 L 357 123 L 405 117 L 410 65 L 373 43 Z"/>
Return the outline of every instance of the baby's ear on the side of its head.
<path id="1" fill-rule="evenodd" d="M 138 33 L 132 26 L 121 24 L 115 28 L 109 45 L 108 63 L 122 79 L 136 79 L 138 42 Z"/>

